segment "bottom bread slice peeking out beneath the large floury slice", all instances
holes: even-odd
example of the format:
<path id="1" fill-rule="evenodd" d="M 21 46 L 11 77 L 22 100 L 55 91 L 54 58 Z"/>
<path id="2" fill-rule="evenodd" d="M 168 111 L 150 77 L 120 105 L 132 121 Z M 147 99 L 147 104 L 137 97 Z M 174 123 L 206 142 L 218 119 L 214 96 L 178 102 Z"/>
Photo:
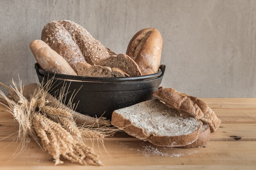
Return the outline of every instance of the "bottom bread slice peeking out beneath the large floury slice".
<path id="1" fill-rule="evenodd" d="M 194 141 L 192 144 L 181 146 L 180 148 L 193 148 L 196 146 L 205 145 L 210 141 L 211 130 L 207 124 L 203 124 L 202 131 L 198 135 L 198 139 Z"/>

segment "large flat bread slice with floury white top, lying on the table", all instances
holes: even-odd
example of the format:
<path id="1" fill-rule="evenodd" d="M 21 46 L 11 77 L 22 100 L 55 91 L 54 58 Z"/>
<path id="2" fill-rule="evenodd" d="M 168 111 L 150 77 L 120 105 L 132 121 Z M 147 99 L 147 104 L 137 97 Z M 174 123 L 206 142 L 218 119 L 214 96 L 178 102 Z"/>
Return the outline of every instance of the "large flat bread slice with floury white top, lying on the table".
<path id="1" fill-rule="evenodd" d="M 198 139 L 202 122 L 181 116 L 158 100 L 148 100 L 112 113 L 111 124 L 157 146 L 186 146 Z"/>

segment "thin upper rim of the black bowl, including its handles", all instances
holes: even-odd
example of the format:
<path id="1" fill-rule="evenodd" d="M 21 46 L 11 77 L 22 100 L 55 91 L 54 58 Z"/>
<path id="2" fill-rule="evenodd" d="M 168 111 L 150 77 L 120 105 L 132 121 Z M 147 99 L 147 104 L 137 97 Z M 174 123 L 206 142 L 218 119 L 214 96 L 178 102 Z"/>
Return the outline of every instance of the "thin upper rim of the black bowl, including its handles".
<path id="1" fill-rule="evenodd" d="M 85 76 L 78 76 L 78 75 L 64 75 L 59 73 L 53 73 L 49 71 L 43 70 L 40 65 L 36 62 L 35 63 L 36 73 L 39 75 L 45 75 L 48 77 L 61 78 L 61 79 L 70 79 L 70 80 L 79 80 L 79 81 L 86 81 L 86 82 L 133 82 L 133 81 L 143 81 L 148 79 L 155 79 L 157 77 L 161 77 L 164 75 L 165 65 L 161 64 L 159 66 L 159 71 L 154 74 L 150 75 L 141 75 L 137 77 L 85 77 Z"/>

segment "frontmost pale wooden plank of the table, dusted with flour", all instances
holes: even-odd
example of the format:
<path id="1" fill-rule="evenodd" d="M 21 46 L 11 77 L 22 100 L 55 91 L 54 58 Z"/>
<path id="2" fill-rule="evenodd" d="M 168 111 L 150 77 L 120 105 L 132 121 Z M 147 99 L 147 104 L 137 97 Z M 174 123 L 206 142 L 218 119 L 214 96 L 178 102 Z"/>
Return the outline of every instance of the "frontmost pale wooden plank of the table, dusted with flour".
<path id="1" fill-rule="evenodd" d="M 9 142 L 0 142 L 0 148 L 9 145 Z M 27 149 L 9 161 L 15 152 L 17 144 L 10 144 L 4 150 L 0 150 L 1 166 L 53 166 L 49 161 L 50 155 L 43 152 L 35 142 L 28 144 Z M 157 147 L 149 142 L 141 141 L 106 141 L 105 148 L 99 149 L 102 152 L 101 161 L 107 166 L 164 166 L 171 168 L 173 165 L 250 165 L 256 166 L 256 142 L 255 141 L 213 141 L 211 144 L 200 148 L 168 148 Z M 95 148 L 99 150 L 98 148 Z M 138 161 L 139 160 L 139 161 Z M 69 161 L 60 167 L 77 166 Z M 50 167 L 49 167 L 50 168 Z M 74 167 L 72 167 L 74 168 Z"/>

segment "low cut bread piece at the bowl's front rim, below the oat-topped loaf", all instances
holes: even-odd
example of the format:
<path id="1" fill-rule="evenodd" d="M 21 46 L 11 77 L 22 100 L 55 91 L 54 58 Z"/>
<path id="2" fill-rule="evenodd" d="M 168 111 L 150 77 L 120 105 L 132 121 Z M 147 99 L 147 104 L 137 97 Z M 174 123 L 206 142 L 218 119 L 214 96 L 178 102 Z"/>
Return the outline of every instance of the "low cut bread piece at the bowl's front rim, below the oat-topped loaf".
<path id="1" fill-rule="evenodd" d="M 110 68 L 106 66 L 90 65 L 79 62 L 77 64 L 77 74 L 88 77 L 128 77 L 129 75 L 119 68 Z"/>

